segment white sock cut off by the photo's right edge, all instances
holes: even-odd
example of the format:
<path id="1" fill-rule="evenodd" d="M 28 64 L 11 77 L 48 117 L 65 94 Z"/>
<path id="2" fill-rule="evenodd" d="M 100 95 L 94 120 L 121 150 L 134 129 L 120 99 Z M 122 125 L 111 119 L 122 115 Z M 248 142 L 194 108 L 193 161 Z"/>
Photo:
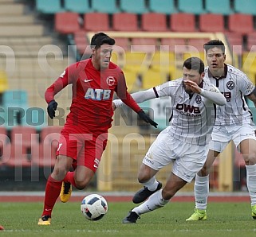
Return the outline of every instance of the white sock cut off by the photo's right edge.
<path id="1" fill-rule="evenodd" d="M 256 165 L 246 165 L 246 183 L 253 206 L 256 204 Z"/>

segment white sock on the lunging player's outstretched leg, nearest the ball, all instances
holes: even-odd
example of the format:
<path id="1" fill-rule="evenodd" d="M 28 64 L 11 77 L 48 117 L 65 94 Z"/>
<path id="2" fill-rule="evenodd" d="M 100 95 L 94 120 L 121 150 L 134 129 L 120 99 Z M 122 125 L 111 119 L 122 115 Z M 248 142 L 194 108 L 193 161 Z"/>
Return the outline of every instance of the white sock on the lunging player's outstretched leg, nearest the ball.
<path id="1" fill-rule="evenodd" d="M 169 200 L 164 200 L 162 196 L 162 189 L 155 192 L 140 206 L 133 208 L 132 212 L 136 212 L 139 216 L 141 214 L 152 212 L 158 208 L 162 208 L 165 204 L 167 204 Z"/>

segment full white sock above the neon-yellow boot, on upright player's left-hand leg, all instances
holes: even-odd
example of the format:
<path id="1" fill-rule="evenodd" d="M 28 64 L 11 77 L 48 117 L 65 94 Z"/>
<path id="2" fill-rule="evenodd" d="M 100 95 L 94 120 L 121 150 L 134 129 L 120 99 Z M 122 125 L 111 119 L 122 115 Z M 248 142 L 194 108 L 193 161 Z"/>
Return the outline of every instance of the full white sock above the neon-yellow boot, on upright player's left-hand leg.
<path id="1" fill-rule="evenodd" d="M 209 175 L 206 177 L 195 176 L 195 208 L 206 210 L 209 195 Z"/>

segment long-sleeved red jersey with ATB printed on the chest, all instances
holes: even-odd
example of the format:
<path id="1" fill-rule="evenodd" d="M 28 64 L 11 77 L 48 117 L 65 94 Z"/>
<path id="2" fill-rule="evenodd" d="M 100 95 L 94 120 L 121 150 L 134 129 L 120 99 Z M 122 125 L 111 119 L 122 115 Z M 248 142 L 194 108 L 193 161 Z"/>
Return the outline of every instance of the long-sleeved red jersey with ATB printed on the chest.
<path id="1" fill-rule="evenodd" d="M 73 132 L 106 132 L 112 122 L 114 91 L 133 111 L 141 110 L 128 94 L 124 72 L 112 62 L 103 71 L 96 70 L 91 59 L 71 64 L 45 91 L 46 102 L 53 100 L 68 84 L 72 84 L 73 98 L 65 128 Z"/>

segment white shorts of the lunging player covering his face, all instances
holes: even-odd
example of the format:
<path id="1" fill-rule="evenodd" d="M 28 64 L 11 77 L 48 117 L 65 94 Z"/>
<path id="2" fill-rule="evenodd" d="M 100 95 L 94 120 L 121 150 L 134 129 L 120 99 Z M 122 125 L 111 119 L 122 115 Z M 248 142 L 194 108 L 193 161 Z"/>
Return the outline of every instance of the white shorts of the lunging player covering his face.
<path id="1" fill-rule="evenodd" d="M 207 159 L 208 145 L 199 146 L 179 141 L 163 130 L 150 146 L 143 163 L 160 170 L 173 161 L 172 173 L 191 182 Z"/>

